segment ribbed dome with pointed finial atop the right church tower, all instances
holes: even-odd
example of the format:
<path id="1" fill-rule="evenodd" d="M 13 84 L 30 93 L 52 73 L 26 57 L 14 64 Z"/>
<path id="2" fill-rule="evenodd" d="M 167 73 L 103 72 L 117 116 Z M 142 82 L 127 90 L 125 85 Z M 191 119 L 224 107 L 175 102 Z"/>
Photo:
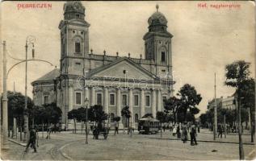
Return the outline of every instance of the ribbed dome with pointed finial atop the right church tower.
<path id="1" fill-rule="evenodd" d="M 167 27 L 167 19 L 164 14 L 158 11 L 159 6 L 156 6 L 157 11 L 153 13 L 148 20 L 149 27 L 154 27 L 154 26 L 165 26 Z"/>

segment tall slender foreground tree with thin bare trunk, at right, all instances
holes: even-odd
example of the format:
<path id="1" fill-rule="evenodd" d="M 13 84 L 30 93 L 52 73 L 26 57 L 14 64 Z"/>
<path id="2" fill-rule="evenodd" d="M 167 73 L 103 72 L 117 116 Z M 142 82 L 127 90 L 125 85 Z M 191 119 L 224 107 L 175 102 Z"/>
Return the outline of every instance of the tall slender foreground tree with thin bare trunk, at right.
<path id="1" fill-rule="evenodd" d="M 239 157 L 245 159 L 242 139 L 241 139 L 241 86 L 250 76 L 250 63 L 244 60 L 235 61 L 225 67 L 225 85 L 236 88 L 237 110 L 238 110 L 238 135 L 239 135 Z"/>

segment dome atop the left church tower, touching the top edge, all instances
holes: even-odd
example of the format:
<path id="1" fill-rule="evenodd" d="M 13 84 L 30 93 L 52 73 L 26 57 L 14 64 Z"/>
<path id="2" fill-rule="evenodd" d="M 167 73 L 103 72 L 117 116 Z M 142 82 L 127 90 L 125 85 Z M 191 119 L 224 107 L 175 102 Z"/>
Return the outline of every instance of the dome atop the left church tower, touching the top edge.
<path id="1" fill-rule="evenodd" d="M 68 1 L 65 3 L 64 7 L 64 18 L 69 19 L 84 19 L 86 8 L 82 6 L 79 1 Z"/>

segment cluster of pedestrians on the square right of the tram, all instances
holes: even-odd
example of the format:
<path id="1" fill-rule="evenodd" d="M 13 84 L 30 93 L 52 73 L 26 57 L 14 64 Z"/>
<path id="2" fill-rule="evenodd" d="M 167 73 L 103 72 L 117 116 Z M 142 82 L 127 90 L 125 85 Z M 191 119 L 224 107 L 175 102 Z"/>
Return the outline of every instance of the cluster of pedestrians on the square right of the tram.
<path id="1" fill-rule="evenodd" d="M 188 133 L 190 134 L 191 138 L 191 146 L 197 145 L 196 142 L 196 130 L 199 133 L 199 126 L 187 125 L 187 123 L 183 123 L 182 125 L 175 124 L 174 126 L 170 126 L 170 130 L 172 131 L 173 136 L 177 135 L 177 138 L 181 138 L 183 143 L 186 143 L 188 140 Z"/>

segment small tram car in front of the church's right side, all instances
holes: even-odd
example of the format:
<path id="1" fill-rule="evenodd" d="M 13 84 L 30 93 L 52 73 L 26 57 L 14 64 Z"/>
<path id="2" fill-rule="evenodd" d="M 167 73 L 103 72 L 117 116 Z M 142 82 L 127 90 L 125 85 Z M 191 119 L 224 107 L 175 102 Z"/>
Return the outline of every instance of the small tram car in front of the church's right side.
<path id="1" fill-rule="evenodd" d="M 138 122 L 140 134 L 157 134 L 160 128 L 160 122 L 155 118 L 141 118 Z"/>

